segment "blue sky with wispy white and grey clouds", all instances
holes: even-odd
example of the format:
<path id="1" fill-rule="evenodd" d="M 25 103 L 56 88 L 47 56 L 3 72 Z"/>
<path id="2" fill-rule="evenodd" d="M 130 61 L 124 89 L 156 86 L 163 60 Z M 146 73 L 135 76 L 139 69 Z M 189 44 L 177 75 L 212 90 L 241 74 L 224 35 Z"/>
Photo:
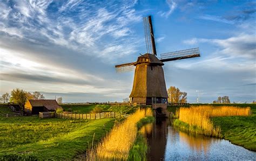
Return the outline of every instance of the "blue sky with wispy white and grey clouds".
<path id="1" fill-rule="evenodd" d="M 199 47 L 165 62 L 166 87 L 188 102 L 256 100 L 255 1 L 0 1 L 0 94 L 20 88 L 64 102 L 122 101 L 134 72 L 114 65 L 146 53 L 152 16 L 157 53 Z"/>

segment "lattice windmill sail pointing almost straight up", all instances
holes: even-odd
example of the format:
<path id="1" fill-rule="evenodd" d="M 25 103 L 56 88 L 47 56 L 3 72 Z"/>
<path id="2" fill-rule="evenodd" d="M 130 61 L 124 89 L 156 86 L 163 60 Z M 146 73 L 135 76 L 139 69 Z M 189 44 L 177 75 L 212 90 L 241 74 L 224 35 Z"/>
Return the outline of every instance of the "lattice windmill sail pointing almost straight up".
<path id="1" fill-rule="evenodd" d="M 147 53 L 157 55 L 156 44 L 154 43 L 154 32 L 151 16 L 143 18 L 143 27 L 145 33 Z"/>

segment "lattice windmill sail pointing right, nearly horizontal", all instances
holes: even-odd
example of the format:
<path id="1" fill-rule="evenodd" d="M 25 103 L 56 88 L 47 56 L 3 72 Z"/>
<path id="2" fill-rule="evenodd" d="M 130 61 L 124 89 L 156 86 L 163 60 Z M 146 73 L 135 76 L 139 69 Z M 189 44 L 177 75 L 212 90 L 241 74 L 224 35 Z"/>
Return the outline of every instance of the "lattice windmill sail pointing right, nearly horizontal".
<path id="1" fill-rule="evenodd" d="M 195 58 L 200 57 L 199 48 L 190 48 L 186 50 L 174 51 L 169 53 L 160 54 L 160 60 L 162 62 L 165 61 L 173 61 L 173 60 L 180 60 L 180 59 L 188 59 L 188 58 Z"/>

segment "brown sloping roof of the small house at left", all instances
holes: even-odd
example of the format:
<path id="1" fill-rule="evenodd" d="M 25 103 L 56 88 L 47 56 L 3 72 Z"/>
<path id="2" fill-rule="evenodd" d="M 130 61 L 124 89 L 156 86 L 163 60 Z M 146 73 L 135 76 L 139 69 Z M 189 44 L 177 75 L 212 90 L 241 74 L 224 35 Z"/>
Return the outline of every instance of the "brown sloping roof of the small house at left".
<path id="1" fill-rule="evenodd" d="M 56 100 L 29 100 L 32 107 L 45 107 L 48 110 L 56 110 L 59 106 Z"/>

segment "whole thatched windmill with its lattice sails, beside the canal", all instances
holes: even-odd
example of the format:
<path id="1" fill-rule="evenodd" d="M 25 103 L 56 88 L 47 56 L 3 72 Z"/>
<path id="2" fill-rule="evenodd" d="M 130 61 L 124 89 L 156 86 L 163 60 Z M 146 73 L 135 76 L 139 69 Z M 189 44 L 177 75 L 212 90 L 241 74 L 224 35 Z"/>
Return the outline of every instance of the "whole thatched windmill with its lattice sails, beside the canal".
<path id="1" fill-rule="evenodd" d="M 143 18 L 147 53 L 140 55 L 135 62 L 116 65 L 116 72 L 134 72 L 131 103 L 156 104 L 167 102 L 163 62 L 200 57 L 199 48 L 190 48 L 160 54 L 157 58 L 156 44 L 151 16 Z"/>

